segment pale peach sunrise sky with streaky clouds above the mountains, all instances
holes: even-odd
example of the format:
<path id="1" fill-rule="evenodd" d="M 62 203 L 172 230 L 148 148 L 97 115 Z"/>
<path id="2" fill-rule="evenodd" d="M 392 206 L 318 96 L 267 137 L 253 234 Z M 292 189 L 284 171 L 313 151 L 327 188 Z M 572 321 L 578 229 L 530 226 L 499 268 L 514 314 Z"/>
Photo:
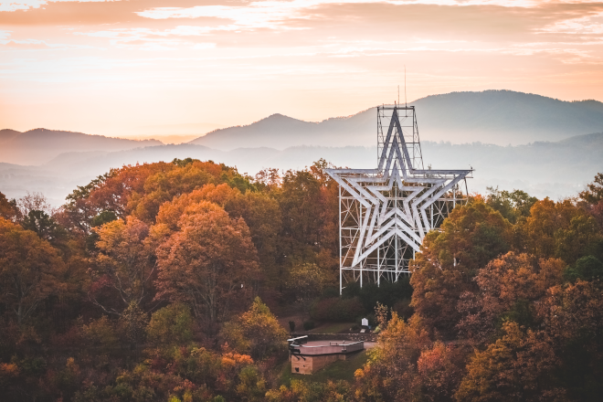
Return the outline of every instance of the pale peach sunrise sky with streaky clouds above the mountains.
<path id="1" fill-rule="evenodd" d="M 0 129 L 202 134 L 455 90 L 603 100 L 603 2 L 0 0 Z"/>

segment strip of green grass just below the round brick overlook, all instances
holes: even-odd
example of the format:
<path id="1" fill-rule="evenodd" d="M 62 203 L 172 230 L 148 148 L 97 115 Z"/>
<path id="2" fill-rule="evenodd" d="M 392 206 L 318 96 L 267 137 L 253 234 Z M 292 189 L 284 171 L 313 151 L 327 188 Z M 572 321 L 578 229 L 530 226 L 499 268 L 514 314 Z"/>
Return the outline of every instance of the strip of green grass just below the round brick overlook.
<path id="1" fill-rule="evenodd" d="M 354 373 L 365 365 L 368 356 L 366 350 L 349 356 L 347 360 L 337 360 L 322 370 L 306 376 L 291 373 L 291 362 L 285 362 L 280 368 L 280 385 L 291 386 L 291 380 L 302 380 L 315 383 L 326 383 L 328 380 L 354 380 Z"/>

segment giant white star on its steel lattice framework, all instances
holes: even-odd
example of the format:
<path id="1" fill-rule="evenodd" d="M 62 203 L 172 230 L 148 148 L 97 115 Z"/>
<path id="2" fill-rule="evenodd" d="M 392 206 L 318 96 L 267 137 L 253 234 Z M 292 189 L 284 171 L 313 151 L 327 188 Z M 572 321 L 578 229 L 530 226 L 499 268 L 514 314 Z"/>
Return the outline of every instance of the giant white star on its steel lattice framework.
<path id="1" fill-rule="evenodd" d="M 414 106 L 377 108 L 377 152 L 376 169 L 325 170 L 339 184 L 340 292 L 409 274 L 426 233 L 467 200 L 471 169 L 424 168 Z"/>

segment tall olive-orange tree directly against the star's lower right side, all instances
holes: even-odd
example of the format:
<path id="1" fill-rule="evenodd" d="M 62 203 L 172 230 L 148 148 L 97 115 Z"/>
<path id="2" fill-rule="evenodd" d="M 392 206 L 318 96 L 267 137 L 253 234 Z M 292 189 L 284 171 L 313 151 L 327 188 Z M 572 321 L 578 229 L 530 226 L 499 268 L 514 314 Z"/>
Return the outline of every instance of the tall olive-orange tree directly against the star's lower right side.
<path id="1" fill-rule="evenodd" d="M 480 197 L 457 206 L 440 231 L 430 231 L 412 266 L 412 306 L 426 327 L 445 337 L 456 333 L 457 303 L 491 259 L 510 249 L 512 226 Z"/>

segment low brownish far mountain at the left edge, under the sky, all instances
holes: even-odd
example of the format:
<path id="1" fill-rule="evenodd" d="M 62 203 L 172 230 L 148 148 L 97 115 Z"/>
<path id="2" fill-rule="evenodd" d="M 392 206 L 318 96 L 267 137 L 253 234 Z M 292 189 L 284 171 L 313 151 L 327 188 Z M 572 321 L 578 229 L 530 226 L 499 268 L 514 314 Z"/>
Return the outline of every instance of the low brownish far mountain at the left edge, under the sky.
<path id="1" fill-rule="evenodd" d="M 27 132 L 0 130 L 0 162 L 45 164 L 60 153 L 123 151 L 153 145 L 163 145 L 163 143 L 156 140 L 126 140 L 82 132 L 61 132 L 47 129 L 35 129 Z"/>

